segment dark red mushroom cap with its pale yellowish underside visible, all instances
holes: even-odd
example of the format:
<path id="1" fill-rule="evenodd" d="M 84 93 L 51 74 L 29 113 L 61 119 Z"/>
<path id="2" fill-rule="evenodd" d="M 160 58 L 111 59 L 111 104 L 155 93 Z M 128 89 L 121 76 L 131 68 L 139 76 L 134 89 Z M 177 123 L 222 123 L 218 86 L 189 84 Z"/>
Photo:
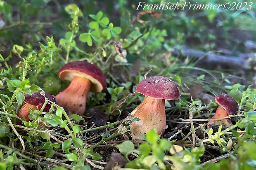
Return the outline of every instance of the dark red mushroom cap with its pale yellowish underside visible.
<path id="1" fill-rule="evenodd" d="M 74 77 L 85 77 L 92 82 L 90 91 L 101 92 L 107 87 L 106 77 L 97 65 L 74 61 L 59 69 L 59 78 L 72 81 Z"/>

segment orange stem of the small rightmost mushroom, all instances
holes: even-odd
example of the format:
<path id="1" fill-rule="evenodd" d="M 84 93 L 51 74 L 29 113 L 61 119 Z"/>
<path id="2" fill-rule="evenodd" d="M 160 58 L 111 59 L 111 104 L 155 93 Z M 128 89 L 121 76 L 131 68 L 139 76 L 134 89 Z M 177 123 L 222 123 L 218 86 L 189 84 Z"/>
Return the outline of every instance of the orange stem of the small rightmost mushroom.
<path id="1" fill-rule="evenodd" d="M 221 107 L 218 106 L 216 113 L 214 114 L 214 116 L 212 117 L 212 119 L 220 119 L 223 117 L 228 116 L 227 111 Z M 208 124 L 214 124 L 214 125 L 222 125 L 222 126 L 226 126 L 227 128 L 229 128 L 230 126 L 232 126 L 232 122 L 230 121 L 230 119 L 221 119 L 221 120 L 212 120 L 209 121 Z M 207 126 L 207 128 L 209 128 L 209 126 Z"/>

